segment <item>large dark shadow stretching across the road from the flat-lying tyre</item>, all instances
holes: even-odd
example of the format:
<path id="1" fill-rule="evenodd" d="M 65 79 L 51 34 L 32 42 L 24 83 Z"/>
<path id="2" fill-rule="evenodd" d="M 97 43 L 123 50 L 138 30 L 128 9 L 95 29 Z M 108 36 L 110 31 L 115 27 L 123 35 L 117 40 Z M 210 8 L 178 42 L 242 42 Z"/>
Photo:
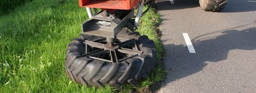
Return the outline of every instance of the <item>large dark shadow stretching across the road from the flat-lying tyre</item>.
<path id="1" fill-rule="evenodd" d="M 166 68 L 170 77 L 166 79 L 163 86 L 203 70 L 207 66 L 206 61 L 226 60 L 230 50 L 255 50 L 255 41 L 256 27 L 252 27 L 245 30 L 220 30 L 196 37 L 192 40 L 196 54 L 184 52 L 187 51 L 187 46 L 183 44 L 164 45 L 171 49 L 168 55 L 171 68 Z"/>

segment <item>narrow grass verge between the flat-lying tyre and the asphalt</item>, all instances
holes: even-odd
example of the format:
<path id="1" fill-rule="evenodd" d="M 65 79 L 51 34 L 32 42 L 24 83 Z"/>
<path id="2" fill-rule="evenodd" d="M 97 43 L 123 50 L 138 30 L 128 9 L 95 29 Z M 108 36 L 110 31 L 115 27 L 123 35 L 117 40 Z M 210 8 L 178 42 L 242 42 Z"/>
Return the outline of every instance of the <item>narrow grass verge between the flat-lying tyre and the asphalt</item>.
<path id="1" fill-rule="evenodd" d="M 157 50 L 157 59 L 159 61 L 156 69 L 150 74 L 150 76 L 147 77 L 146 80 L 142 81 L 137 87 L 133 87 L 133 89 L 139 92 L 154 91 L 154 89 L 157 89 L 157 82 L 163 81 L 166 77 L 166 72 L 163 68 L 164 48 L 163 44 L 160 42 L 161 35 L 157 32 L 159 30 L 158 26 L 160 23 L 160 15 L 157 13 L 156 9 L 151 8 L 146 15 L 142 17 L 140 27 L 137 29 L 137 32 L 141 35 L 146 35 L 150 40 L 154 41 Z M 128 87 L 127 89 L 131 89 L 131 87 Z"/>

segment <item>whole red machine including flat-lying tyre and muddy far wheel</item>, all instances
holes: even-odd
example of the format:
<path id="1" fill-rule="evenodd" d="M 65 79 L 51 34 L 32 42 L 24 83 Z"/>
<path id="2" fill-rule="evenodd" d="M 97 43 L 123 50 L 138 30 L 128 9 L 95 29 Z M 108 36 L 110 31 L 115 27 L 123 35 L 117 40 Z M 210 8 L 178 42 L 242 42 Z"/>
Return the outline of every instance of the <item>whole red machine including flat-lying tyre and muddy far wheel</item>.
<path id="1" fill-rule="evenodd" d="M 219 11 L 227 3 L 200 1 L 210 11 Z M 82 24 L 80 36 L 68 45 L 65 68 L 69 78 L 83 85 L 110 84 L 122 89 L 123 84 L 135 86 L 148 77 L 157 64 L 156 48 L 135 30 L 153 4 L 154 0 L 79 0 L 89 19 Z M 148 5 L 145 11 L 144 5 Z"/>

